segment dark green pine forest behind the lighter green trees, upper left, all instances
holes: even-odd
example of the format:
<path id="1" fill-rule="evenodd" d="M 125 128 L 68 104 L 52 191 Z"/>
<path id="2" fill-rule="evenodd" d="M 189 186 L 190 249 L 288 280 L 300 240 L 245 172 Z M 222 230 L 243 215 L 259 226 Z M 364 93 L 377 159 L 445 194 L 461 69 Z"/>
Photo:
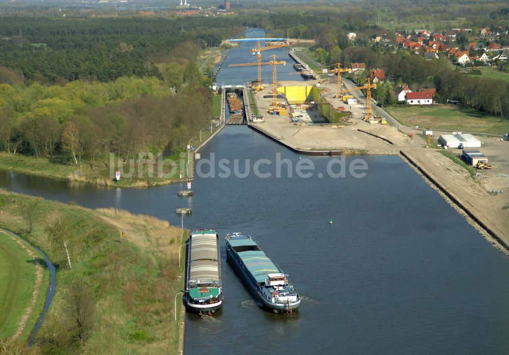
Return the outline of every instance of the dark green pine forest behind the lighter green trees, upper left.
<path id="1" fill-rule="evenodd" d="M 0 66 L 31 81 L 115 80 L 156 76 L 183 42 L 215 47 L 235 21 L 217 18 L 52 19 L 2 17 Z M 2 78 L 0 77 L 0 82 Z"/>

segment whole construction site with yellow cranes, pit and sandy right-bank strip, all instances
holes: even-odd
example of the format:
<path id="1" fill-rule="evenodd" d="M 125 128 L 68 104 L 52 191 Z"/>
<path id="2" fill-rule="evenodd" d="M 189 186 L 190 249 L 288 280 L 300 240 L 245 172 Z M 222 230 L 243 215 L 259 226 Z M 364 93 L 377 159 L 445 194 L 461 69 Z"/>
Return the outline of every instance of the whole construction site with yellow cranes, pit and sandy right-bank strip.
<path id="1" fill-rule="evenodd" d="M 509 250 L 505 233 L 509 219 L 507 209 L 501 209 L 506 201 L 501 193 L 509 189 L 509 153 L 501 154 L 500 150 L 509 152 L 507 142 L 483 139 L 483 153 L 458 150 L 458 160 L 483 171 L 472 179 L 471 172 L 434 148 L 440 143 L 438 139 L 421 135 L 417 127 L 401 125 L 375 106 L 371 94 L 376 83 L 370 78 L 355 85 L 342 77 L 350 69 L 340 63 L 312 70 L 292 49 L 289 58 L 272 55 L 270 61 L 263 61 L 262 52 L 289 46 L 286 39 L 265 47 L 257 42 L 250 50 L 257 55 L 256 62 L 229 66 L 258 67 L 258 77 L 246 87 L 254 101 L 248 106 L 256 107 L 257 115 L 246 114 L 245 124 L 302 154 L 398 154 L 479 226 L 497 248 Z M 293 66 L 294 74 L 304 81 L 278 81 L 278 67 L 285 65 Z M 262 68 L 270 68 L 272 80 L 262 82 Z M 460 147 L 463 145 L 455 146 Z M 488 164 L 488 156 L 493 166 Z"/>

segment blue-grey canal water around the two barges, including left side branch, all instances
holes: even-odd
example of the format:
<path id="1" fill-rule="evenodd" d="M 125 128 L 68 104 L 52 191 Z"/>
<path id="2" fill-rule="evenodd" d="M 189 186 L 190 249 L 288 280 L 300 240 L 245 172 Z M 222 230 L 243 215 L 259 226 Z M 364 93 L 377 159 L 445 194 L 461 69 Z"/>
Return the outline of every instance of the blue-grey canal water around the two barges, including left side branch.
<path id="1" fill-rule="evenodd" d="M 241 48 L 228 60 L 237 60 Z M 247 61 L 249 55 L 238 54 Z M 249 77 L 245 68 L 231 68 L 240 75 L 224 69 L 218 82 Z M 181 222 L 175 209 L 191 207 L 186 228 L 221 236 L 225 301 L 213 317 L 186 315 L 186 354 L 509 352 L 509 259 L 398 156 L 347 157 L 347 168 L 363 159 L 366 175 L 333 178 L 333 158 L 299 160 L 246 126 L 226 127 L 201 155 L 192 198 L 177 196 L 184 185 L 115 189 L 11 172 L 0 173 L 0 187 L 174 225 Z M 220 159 L 229 160 L 227 177 L 219 177 Z M 252 173 L 260 159 L 267 159 L 259 167 L 267 178 Z M 314 165 L 306 171 L 312 176 L 297 176 L 299 161 Z M 247 166 L 251 173 L 235 176 Z M 296 313 L 270 313 L 253 301 L 226 262 L 223 236 L 235 231 L 252 235 L 290 275 L 303 298 Z"/>

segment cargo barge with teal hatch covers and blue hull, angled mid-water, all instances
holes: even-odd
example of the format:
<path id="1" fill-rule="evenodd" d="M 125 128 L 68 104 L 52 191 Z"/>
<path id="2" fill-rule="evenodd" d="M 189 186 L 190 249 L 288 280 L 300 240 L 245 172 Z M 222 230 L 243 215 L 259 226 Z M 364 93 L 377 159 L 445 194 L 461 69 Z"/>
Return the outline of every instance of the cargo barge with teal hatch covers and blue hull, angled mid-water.
<path id="1" fill-rule="evenodd" d="M 288 313 L 300 304 L 300 296 L 283 273 L 250 236 L 227 234 L 228 259 L 251 293 L 265 308 Z"/>

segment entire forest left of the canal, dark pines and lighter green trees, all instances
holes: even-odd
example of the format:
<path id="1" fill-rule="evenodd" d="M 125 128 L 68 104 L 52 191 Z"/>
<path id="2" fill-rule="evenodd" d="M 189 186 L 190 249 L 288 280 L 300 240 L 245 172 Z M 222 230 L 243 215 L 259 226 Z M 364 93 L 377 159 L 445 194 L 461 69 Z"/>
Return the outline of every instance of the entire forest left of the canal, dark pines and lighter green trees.
<path id="1" fill-rule="evenodd" d="M 2 17 L 0 150 L 92 169 L 109 152 L 179 151 L 210 121 L 199 56 L 231 31 L 213 18 Z"/>

